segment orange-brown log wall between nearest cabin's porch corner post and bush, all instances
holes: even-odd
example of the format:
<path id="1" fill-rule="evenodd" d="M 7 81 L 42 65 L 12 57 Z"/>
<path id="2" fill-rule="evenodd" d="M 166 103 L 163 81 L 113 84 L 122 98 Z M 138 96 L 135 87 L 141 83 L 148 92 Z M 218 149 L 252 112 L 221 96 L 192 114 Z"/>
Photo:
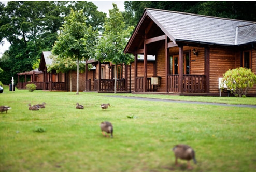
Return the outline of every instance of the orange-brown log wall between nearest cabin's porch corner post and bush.
<path id="1" fill-rule="evenodd" d="M 236 68 L 236 52 L 234 49 L 210 48 L 210 93 L 218 93 L 218 78 L 229 70 Z"/>

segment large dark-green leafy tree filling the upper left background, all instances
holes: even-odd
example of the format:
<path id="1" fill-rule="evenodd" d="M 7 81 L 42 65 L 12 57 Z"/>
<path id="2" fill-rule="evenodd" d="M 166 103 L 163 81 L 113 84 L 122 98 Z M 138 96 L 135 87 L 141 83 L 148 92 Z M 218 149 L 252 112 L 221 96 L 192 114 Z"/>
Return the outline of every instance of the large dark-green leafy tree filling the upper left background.
<path id="1" fill-rule="evenodd" d="M 93 30 L 102 27 L 106 14 L 97 11 L 92 2 L 9 1 L 6 6 L 0 2 L 0 44 L 5 38 L 11 44 L 6 51 L 10 64 L 0 64 L 5 68 L 4 75 L 17 79 L 17 73 L 32 70 L 42 51 L 51 51 L 70 7 L 84 9 L 86 23 Z"/>

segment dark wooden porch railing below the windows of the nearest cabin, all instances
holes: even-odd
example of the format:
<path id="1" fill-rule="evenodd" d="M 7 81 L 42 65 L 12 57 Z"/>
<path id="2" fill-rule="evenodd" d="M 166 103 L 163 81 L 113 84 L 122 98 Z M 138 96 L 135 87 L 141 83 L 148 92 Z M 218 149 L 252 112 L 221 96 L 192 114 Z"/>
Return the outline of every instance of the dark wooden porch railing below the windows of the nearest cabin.
<path id="1" fill-rule="evenodd" d="M 183 93 L 204 93 L 206 91 L 205 75 L 183 75 L 183 84 L 179 85 L 179 75 L 168 75 L 168 92 L 179 92 L 182 87 Z"/>

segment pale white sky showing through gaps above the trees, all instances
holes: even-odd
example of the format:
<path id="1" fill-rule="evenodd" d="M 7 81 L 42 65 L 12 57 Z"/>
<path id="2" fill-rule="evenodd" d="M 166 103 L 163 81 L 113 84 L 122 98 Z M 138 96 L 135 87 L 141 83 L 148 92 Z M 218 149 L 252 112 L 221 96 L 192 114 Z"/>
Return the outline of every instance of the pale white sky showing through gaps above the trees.
<path id="1" fill-rule="evenodd" d="M 7 4 L 8 1 L 0 1 L 4 4 Z M 124 1 L 91 1 L 93 4 L 95 4 L 98 7 L 98 11 L 102 11 L 107 13 L 108 16 L 108 10 L 113 8 L 112 3 L 117 4 L 117 7 L 119 11 L 124 11 Z M 2 57 L 3 53 L 8 50 L 10 43 L 5 39 L 5 44 L 2 46 L 0 45 L 0 58 Z"/>

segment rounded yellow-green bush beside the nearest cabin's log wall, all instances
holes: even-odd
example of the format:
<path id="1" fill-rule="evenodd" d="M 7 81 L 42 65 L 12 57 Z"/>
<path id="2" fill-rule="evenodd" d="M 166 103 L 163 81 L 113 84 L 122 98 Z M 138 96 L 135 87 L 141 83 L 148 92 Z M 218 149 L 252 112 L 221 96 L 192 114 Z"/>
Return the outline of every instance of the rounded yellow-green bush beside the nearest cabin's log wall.
<path id="1" fill-rule="evenodd" d="M 251 69 L 243 67 L 229 69 L 223 76 L 222 85 L 225 83 L 227 89 L 237 97 L 246 97 L 249 89 L 256 84 L 256 75 Z"/>

